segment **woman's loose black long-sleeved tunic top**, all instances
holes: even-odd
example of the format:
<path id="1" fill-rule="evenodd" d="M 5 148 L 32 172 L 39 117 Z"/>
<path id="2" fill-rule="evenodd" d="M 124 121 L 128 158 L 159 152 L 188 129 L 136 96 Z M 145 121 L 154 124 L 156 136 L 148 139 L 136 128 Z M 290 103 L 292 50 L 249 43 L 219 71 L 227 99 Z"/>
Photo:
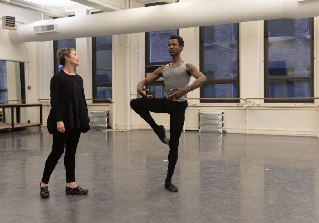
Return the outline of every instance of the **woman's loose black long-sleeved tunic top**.
<path id="1" fill-rule="evenodd" d="M 50 134 L 62 135 L 73 128 L 85 133 L 90 129 L 90 119 L 84 95 L 83 80 L 79 75 L 68 75 L 63 70 L 51 79 L 51 111 L 47 126 Z M 56 122 L 63 121 L 65 132 L 59 132 Z"/>

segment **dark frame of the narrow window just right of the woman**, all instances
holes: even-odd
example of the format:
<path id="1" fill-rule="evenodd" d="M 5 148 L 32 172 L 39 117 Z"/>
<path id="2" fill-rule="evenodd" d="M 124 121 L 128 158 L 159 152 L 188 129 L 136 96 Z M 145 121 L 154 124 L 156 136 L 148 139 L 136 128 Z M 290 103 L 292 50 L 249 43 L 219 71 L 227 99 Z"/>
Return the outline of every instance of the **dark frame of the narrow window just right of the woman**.
<path id="1" fill-rule="evenodd" d="M 103 13 L 103 11 L 91 12 L 91 14 Z M 96 88 L 98 87 L 111 87 L 113 88 L 112 83 L 96 83 L 96 37 L 92 37 L 92 97 L 96 98 Z M 112 49 L 113 49 L 113 35 L 112 35 Z M 113 58 L 111 58 L 113 60 Z M 113 73 L 113 70 L 112 70 Z M 113 99 L 112 95 L 112 99 Z M 92 103 L 112 103 L 111 100 L 92 100 Z"/>

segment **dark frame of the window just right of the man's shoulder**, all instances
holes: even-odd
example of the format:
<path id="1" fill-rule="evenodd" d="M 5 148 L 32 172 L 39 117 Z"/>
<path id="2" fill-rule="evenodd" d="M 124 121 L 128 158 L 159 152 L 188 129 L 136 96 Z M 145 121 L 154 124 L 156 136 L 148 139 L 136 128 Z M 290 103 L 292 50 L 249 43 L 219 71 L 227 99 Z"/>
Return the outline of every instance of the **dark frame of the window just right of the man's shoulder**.
<path id="1" fill-rule="evenodd" d="M 234 23 L 233 23 L 234 24 Z M 235 23 L 237 26 L 237 38 L 234 40 L 234 32 L 232 33 L 232 41 L 230 44 L 237 43 L 237 78 L 236 79 L 215 79 L 207 80 L 207 84 L 237 84 L 237 97 L 240 97 L 240 85 L 239 85 L 239 23 Z M 234 25 L 233 25 L 234 27 Z M 214 27 L 215 32 L 215 27 Z M 203 26 L 199 27 L 199 69 L 203 73 L 204 71 L 204 28 Z M 200 87 L 200 97 L 204 97 L 204 85 Z M 239 103 L 239 99 L 200 99 L 200 103 Z"/>

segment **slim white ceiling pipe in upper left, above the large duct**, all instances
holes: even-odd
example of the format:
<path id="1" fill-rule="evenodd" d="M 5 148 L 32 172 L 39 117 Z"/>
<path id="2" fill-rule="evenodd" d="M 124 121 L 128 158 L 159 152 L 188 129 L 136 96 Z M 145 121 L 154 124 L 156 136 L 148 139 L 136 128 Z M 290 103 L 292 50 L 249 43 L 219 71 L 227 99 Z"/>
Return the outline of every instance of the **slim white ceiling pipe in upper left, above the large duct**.
<path id="1" fill-rule="evenodd" d="M 40 12 L 40 13 L 43 13 L 43 14 L 46 14 L 46 15 L 52 16 L 52 17 L 61 18 L 61 17 L 68 17 L 70 15 L 69 12 L 65 12 L 65 11 L 51 8 L 51 7 L 44 6 L 44 5 L 31 3 L 28 1 L 24 1 L 24 0 L 11 0 L 11 1 L 10 0 L 0 0 L 0 3 L 23 8 L 23 9 L 27 9 L 27 10 L 31 10 L 31 11 L 35 11 L 35 12 Z"/>

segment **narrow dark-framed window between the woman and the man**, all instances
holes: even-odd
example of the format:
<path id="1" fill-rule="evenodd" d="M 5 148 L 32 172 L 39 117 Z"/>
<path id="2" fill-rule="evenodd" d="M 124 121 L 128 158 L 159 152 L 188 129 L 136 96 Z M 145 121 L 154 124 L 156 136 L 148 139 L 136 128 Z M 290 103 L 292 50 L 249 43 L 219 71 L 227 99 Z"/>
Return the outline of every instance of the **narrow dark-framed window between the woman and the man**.
<path id="1" fill-rule="evenodd" d="M 112 99 L 112 36 L 92 37 L 92 75 L 93 98 Z M 93 100 L 93 103 L 108 102 Z"/>

